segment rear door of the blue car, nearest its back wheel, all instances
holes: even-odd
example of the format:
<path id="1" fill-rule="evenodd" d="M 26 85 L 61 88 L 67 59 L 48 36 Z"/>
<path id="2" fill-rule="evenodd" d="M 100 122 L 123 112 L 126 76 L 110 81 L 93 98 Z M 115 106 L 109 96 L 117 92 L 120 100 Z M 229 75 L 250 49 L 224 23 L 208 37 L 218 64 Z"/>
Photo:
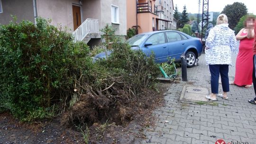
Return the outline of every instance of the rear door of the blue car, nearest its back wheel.
<path id="1" fill-rule="evenodd" d="M 188 38 L 175 31 L 166 32 L 166 37 L 168 40 L 168 56 L 180 60 L 181 54 L 185 52 L 188 46 L 186 42 Z"/>

